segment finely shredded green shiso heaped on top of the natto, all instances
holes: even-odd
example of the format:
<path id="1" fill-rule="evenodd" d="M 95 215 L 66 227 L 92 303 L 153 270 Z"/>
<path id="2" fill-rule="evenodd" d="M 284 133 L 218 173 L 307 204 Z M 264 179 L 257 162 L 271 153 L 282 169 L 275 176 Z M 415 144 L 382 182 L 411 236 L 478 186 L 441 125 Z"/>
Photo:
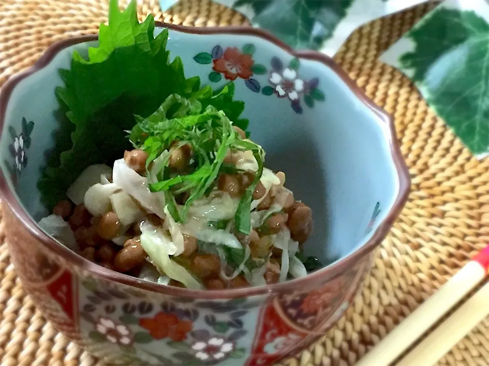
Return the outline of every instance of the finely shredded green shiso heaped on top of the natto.
<path id="1" fill-rule="evenodd" d="M 218 100 L 232 93 L 234 89 L 231 85 L 233 84 L 218 92 L 215 99 L 212 99 L 213 97 L 210 99 Z M 195 200 L 209 194 L 220 172 L 230 171 L 229 165 L 223 167 L 224 159 L 230 150 L 251 150 L 258 162 L 258 171 L 252 184 L 243 194 L 235 215 L 237 230 L 248 234 L 251 231 L 252 195 L 263 172 L 265 153 L 259 145 L 241 140 L 232 122 L 222 110 L 217 110 L 209 104 L 202 111 L 204 105 L 205 102 L 196 98 L 184 98 L 172 94 L 147 118 L 136 117 L 138 123 L 130 131 L 129 139 L 134 147 L 148 152 L 147 166 L 165 150 L 178 148 L 184 144 L 192 147 L 193 171 L 170 177 L 167 160 L 165 164 L 159 166 L 160 171 L 152 172 L 153 177 L 167 176 L 167 178 L 152 181 L 149 186 L 152 192 L 165 191 L 166 197 L 171 192 L 173 197 L 170 199 L 171 202 L 175 202 L 174 195 L 189 193 L 180 213 L 176 206 L 174 210 L 172 207 L 172 212 L 175 214 L 172 216 L 177 222 L 185 222 L 189 207 Z"/>

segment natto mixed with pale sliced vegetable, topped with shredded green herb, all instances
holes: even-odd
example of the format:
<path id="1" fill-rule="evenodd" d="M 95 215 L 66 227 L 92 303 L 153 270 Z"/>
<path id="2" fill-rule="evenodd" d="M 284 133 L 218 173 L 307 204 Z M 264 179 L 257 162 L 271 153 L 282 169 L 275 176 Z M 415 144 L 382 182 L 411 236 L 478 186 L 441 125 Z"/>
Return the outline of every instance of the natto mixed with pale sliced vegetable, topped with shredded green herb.
<path id="1" fill-rule="evenodd" d="M 41 226 L 64 227 L 58 239 L 107 268 L 189 289 L 307 274 L 311 209 L 224 112 L 171 95 L 137 119 L 134 149 L 85 169 Z"/>

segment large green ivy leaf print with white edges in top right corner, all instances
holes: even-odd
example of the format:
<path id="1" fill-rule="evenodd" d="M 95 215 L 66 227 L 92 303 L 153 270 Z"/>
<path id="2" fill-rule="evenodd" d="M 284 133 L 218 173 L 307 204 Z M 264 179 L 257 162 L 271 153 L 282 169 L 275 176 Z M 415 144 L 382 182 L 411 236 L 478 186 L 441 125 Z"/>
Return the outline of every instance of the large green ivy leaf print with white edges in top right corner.
<path id="1" fill-rule="evenodd" d="M 382 56 L 479 159 L 489 154 L 488 20 L 484 0 L 448 0 Z"/>

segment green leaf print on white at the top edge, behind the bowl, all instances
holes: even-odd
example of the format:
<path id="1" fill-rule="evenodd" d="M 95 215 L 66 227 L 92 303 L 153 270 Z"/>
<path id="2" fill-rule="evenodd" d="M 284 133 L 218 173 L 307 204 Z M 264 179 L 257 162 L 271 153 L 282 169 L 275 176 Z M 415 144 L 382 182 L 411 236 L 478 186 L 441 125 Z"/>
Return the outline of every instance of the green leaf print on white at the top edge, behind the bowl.
<path id="1" fill-rule="evenodd" d="M 177 0 L 159 0 L 166 11 Z M 214 0 L 295 49 L 333 56 L 360 25 L 428 0 Z"/>

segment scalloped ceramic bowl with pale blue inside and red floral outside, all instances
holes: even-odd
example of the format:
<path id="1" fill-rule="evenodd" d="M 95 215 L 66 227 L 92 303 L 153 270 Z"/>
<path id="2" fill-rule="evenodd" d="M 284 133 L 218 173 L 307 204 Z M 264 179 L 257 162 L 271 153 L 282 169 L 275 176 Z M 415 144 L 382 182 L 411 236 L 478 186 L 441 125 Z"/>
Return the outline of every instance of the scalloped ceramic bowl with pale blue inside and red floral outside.
<path id="1" fill-rule="evenodd" d="M 187 77 L 216 88 L 234 80 L 266 165 L 284 171 L 288 188 L 313 210 L 306 253 L 333 263 L 286 283 L 191 291 L 112 272 L 48 237 L 36 225 L 46 214 L 36 185 L 57 128 L 58 69 L 69 67 L 75 49 L 87 54 L 96 36 L 52 45 L 0 94 L 1 192 L 12 260 L 46 318 L 108 362 L 274 362 L 338 321 L 404 205 L 410 176 L 394 124 L 324 55 L 294 52 L 251 28 L 158 25 L 170 28 L 168 48 L 182 58 Z"/>

